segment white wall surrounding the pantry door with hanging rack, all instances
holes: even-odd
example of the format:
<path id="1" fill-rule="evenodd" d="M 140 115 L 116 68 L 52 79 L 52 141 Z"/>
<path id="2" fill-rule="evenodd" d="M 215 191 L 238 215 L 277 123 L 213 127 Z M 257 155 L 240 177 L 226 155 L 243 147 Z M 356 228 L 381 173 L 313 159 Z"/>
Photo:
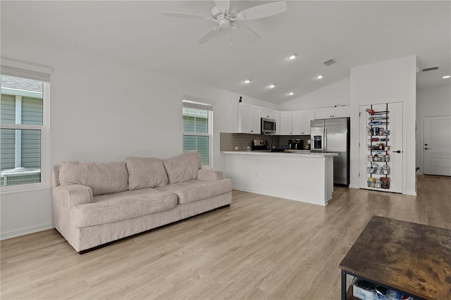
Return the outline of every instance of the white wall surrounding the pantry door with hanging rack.
<path id="1" fill-rule="evenodd" d="M 359 127 L 359 106 L 402 102 L 403 194 L 416 194 L 415 118 L 416 56 L 351 68 L 351 128 Z M 351 187 L 359 186 L 359 132 L 351 132 Z"/>

